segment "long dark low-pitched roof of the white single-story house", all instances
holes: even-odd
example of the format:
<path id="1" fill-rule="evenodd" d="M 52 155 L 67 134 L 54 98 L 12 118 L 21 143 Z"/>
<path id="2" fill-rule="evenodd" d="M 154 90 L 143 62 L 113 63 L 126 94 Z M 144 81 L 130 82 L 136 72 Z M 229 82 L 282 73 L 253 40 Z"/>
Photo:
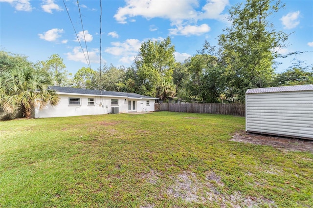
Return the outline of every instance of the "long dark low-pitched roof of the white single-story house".
<path id="1" fill-rule="evenodd" d="M 113 91 L 106 91 L 106 90 L 93 90 L 93 89 L 82 89 L 82 88 L 60 87 L 60 86 L 49 86 L 49 89 L 54 89 L 60 94 L 84 94 L 84 95 L 96 95 L 96 96 L 103 96 L 103 97 L 125 97 L 125 98 L 134 98 L 134 99 L 158 100 L 158 98 L 153 98 L 153 97 L 139 95 L 136 93 L 129 93 L 129 92 L 113 92 Z"/>

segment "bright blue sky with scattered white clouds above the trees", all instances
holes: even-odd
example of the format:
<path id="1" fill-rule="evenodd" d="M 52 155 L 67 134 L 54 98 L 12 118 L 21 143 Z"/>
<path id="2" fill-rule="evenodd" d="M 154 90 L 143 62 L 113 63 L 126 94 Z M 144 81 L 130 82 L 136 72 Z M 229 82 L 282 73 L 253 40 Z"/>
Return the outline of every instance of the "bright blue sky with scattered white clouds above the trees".
<path id="1" fill-rule="evenodd" d="M 100 66 L 100 0 L 64 1 L 91 68 Z M 201 49 L 205 40 L 216 45 L 218 35 L 229 26 L 228 9 L 234 0 L 102 0 L 101 64 L 130 66 L 140 44 L 149 39 L 171 37 L 175 57 L 183 62 Z M 285 0 L 274 14 L 277 31 L 291 34 L 281 54 L 307 51 L 277 60 L 281 72 L 293 58 L 313 64 L 313 0 Z M 84 32 L 83 32 L 84 31 Z M 0 47 L 28 56 L 31 62 L 59 54 L 67 71 L 88 67 L 62 0 L 0 0 Z M 88 59 L 88 58 L 87 58 Z"/>

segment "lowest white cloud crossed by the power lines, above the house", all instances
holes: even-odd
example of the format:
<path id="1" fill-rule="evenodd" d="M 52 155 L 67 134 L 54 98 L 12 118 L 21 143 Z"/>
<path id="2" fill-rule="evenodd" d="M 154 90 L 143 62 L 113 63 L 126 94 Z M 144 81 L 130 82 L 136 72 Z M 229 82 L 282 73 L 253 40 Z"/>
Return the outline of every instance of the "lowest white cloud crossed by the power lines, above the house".
<path id="1" fill-rule="evenodd" d="M 85 55 L 84 55 L 85 53 Z M 93 48 L 88 50 L 88 55 L 86 51 L 81 50 L 81 47 L 74 47 L 72 52 L 68 52 L 65 55 L 67 55 L 67 60 L 70 61 L 75 61 L 75 62 L 83 62 L 87 64 L 86 58 L 88 59 L 89 55 L 89 60 L 91 63 L 99 63 L 100 62 L 100 55 L 99 55 L 99 49 Z M 86 58 L 85 58 L 86 56 Z"/>

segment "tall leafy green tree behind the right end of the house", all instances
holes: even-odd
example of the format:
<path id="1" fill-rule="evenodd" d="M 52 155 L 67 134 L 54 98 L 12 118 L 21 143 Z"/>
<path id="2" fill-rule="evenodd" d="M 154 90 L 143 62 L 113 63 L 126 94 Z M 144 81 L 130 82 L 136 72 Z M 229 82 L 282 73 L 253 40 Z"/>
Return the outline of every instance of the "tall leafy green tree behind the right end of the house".
<path id="1" fill-rule="evenodd" d="M 174 52 L 175 47 L 169 37 L 163 41 L 148 40 L 141 44 L 134 60 L 138 93 L 157 97 L 163 94 L 159 92 L 164 89 L 162 84 L 173 85 Z"/>

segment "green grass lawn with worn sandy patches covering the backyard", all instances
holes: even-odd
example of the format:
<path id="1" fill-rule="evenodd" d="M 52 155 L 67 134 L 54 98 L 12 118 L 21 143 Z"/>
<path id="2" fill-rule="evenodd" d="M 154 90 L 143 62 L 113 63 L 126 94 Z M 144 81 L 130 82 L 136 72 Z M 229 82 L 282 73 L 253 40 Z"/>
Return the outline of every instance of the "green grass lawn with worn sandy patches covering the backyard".
<path id="1" fill-rule="evenodd" d="M 229 141 L 245 118 L 0 122 L 0 207 L 313 207 L 313 154 Z"/>

